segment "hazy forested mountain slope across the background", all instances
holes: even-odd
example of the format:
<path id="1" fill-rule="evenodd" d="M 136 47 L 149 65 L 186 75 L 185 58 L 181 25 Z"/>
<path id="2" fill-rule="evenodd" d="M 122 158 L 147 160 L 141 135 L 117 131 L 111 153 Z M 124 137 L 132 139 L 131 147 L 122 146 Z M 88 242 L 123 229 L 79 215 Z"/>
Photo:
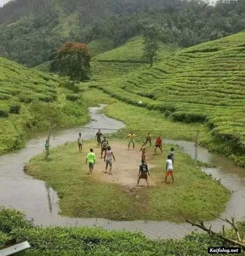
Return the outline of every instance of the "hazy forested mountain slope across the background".
<path id="1" fill-rule="evenodd" d="M 64 42 L 84 41 L 94 56 L 152 22 L 162 42 L 189 47 L 245 29 L 245 0 L 12 0 L 0 8 L 0 55 L 35 67 Z"/>

